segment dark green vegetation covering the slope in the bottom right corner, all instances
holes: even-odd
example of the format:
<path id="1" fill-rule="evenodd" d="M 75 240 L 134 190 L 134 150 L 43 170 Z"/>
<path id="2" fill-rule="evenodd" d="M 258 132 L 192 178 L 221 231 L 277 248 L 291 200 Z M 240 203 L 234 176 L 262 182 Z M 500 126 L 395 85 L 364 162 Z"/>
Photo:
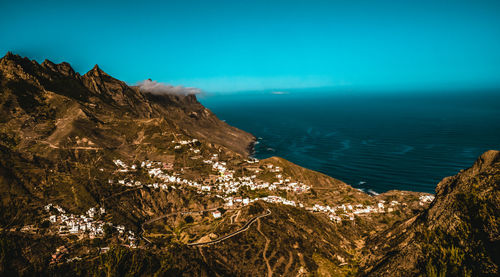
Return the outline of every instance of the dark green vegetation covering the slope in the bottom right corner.
<path id="1" fill-rule="evenodd" d="M 489 197 L 481 195 L 479 187 L 473 185 L 472 193 L 460 193 L 454 202 L 455 208 L 462 211 L 455 230 L 424 232 L 428 276 L 496 275 L 500 243 L 491 241 L 488 232 L 499 230 L 500 220 Z"/>

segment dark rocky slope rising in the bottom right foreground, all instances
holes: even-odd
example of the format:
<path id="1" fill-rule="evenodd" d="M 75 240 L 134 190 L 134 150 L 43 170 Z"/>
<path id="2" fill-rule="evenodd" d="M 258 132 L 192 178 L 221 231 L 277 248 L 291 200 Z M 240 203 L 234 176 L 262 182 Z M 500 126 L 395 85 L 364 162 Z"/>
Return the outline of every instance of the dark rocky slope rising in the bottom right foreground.
<path id="1" fill-rule="evenodd" d="M 498 276 L 500 152 L 443 179 L 420 215 L 371 239 L 366 276 Z"/>

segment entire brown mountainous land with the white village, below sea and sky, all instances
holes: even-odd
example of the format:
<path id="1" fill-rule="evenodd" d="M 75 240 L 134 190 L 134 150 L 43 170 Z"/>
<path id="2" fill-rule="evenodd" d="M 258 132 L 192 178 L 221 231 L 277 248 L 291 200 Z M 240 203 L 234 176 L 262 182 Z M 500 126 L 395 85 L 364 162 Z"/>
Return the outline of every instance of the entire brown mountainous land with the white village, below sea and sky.
<path id="1" fill-rule="evenodd" d="M 498 152 L 443 180 L 434 199 L 370 195 L 279 157 L 257 160 L 254 141 L 196 95 L 7 53 L 0 274 L 497 273 Z"/>

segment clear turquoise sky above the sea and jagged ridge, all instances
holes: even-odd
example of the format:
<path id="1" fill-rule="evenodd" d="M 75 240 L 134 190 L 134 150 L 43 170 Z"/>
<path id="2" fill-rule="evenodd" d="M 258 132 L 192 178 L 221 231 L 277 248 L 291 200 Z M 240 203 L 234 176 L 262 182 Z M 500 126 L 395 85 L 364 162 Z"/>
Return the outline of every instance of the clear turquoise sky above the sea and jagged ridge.
<path id="1" fill-rule="evenodd" d="M 6 1 L 0 55 L 205 92 L 500 87 L 500 1 Z"/>

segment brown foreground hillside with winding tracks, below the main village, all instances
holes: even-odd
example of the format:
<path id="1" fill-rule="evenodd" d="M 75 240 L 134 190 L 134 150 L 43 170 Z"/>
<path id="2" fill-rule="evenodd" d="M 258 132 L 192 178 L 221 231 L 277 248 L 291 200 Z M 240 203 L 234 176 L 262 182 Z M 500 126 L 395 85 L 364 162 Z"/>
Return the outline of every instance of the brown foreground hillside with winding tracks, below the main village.
<path id="1" fill-rule="evenodd" d="M 298 208 L 257 202 L 241 210 L 238 219 L 228 217 L 216 222 L 212 236 L 223 237 L 231 230 L 241 228 L 256 216 L 248 230 L 210 246 L 175 244 L 169 248 L 148 251 L 149 261 L 132 258 L 137 250 L 115 249 L 127 253 L 120 260 L 105 257 L 93 263 L 82 263 L 53 268 L 51 273 L 72 276 L 75 268 L 84 268 L 84 274 L 99 275 L 107 266 L 118 264 L 119 273 L 133 272 L 142 266 L 142 272 L 168 276 L 297 276 L 321 274 L 346 275 L 353 272 L 347 262 L 353 259 L 351 241 L 359 238 L 354 225 L 333 225 L 327 218 L 304 212 Z M 143 252 L 144 253 L 144 252 Z M 114 255 L 114 254 L 113 254 Z"/>

